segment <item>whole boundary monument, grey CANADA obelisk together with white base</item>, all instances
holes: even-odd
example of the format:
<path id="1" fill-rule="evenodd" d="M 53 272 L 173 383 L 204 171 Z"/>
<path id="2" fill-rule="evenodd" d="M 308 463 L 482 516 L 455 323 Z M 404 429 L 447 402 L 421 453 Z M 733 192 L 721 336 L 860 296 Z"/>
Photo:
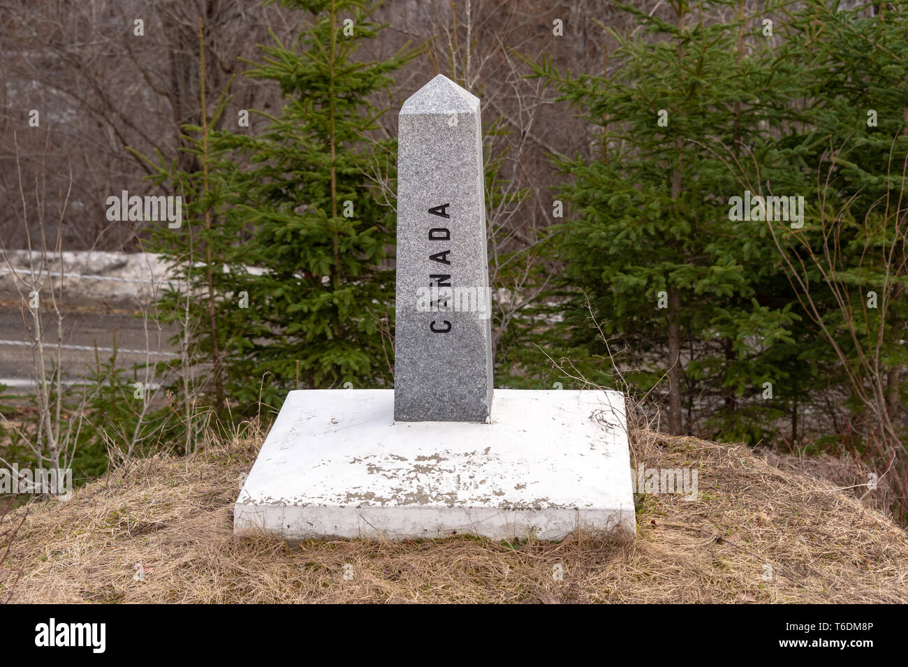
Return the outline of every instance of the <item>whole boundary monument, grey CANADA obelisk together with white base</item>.
<path id="1" fill-rule="evenodd" d="M 479 99 L 433 78 L 398 161 L 395 388 L 291 391 L 234 533 L 635 535 L 624 397 L 493 392 Z"/>

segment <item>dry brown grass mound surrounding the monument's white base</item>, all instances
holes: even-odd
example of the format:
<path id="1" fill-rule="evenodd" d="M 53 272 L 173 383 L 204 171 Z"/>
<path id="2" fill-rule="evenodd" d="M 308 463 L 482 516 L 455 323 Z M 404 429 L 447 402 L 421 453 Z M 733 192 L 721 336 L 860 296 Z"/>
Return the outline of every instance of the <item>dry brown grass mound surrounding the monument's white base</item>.
<path id="1" fill-rule="evenodd" d="M 0 599 L 21 569 L 17 603 L 908 602 L 903 531 L 744 446 L 635 434 L 646 466 L 698 468 L 700 497 L 642 497 L 634 544 L 575 535 L 560 544 L 456 537 L 289 547 L 232 536 L 238 477 L 258 445 L 155 456 L 69 502 L 33 505 L 0 572 Z"/>

